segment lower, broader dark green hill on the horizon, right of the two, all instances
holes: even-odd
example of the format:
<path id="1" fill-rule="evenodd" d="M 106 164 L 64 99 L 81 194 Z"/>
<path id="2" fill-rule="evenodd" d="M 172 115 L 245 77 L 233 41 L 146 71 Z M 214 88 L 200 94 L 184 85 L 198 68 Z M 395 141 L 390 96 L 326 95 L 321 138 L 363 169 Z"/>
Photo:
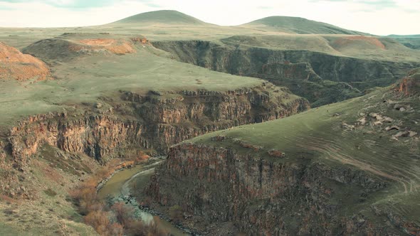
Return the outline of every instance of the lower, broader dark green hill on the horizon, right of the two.
<path id="1" fill-rule="evenodd" d="M 351 34 L 351 35 L 368 35 L 358 31 L 350 31 L 345 28 L 332 26 L 327 23 L 318 21 L 310 21 L 300 17 L 290 16 L 270 16 L 261 18 L 250 23 L 243 24 L 242 26 L 267 26 L 278 29 L 285 33 L 298 33 L 298 34 Z"/>

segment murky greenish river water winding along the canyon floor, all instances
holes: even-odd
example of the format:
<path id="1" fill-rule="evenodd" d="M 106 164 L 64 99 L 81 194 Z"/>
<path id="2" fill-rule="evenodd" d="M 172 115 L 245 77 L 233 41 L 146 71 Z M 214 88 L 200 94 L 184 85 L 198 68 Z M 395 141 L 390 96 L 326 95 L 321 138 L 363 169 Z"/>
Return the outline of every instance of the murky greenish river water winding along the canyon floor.
<path id="1" fill-rule="evenodd" d="M 127 168 L 122 171 L 115 173 L 110 180 L 105 183 L 105 185 L 100 188 L 98 191 L 99 198 L 105 200 L 109 196 L 111 197 L 126 197 L 130 195 L 130 186 L 132 183 L 136 184 L 136 188 L 143 189 L 149 183 L 150 177 L 154 173 L 154 167 L 161 163 L 162 160 L 148 161 L 148 163 L 140 164 L 132 168 Z M 157 216 L 154 216 L 150 213 L 147 213 L 144 210 L 136 209 L 137 215 L 140 215 L 140 218 L 146 225 L 154 223 L 154 219 Z M 184 233 L 182 230 L 179 230 L 177 227 L 172 225 L 172 223 L 159 218 L 159 224 L 157 226 L 159 229 L 169 232 L 170 235 L 174 236 L 186 236 L 189 235 Z"/>

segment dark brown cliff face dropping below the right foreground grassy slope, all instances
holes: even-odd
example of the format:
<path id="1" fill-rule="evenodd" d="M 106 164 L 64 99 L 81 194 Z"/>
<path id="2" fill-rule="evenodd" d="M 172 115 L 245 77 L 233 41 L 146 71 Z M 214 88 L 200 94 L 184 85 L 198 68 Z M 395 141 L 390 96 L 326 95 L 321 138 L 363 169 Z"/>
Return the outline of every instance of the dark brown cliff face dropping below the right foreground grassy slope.
<path id="1" fill-rule="evenodd" d="M 386 187 L 386 181 L 348 166 L 310 159 L 282 163 L 180 144 L 170 149 L 146 192 L 206 222 L 232 221 L 247 235 L 387 235 L 394 230 L 372 222 L 377 216 L 346 213 Z"/>

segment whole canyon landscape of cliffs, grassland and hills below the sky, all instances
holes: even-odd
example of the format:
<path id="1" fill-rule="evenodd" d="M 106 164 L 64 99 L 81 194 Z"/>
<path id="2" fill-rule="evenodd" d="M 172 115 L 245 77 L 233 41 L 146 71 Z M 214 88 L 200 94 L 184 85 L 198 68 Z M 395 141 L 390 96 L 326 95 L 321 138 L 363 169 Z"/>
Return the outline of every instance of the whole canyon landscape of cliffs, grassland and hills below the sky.
<path id="1" fill-rule="evenodd" d="M 419 50 L 177 11 L 0 41 L 0 235 L 135 235 L 137 208 L 199 235 L 420 234 Z"/>

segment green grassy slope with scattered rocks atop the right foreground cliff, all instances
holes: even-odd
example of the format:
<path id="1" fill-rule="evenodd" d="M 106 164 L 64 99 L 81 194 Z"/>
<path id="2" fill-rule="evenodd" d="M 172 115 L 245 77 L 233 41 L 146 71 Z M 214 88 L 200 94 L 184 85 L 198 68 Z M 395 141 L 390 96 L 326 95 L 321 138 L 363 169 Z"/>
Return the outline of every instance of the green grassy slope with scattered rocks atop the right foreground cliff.
<path id="1" fill-rule="evenodd" d="M 199 136 L 192 142 L 222 146 L 271 161 L 295 163 L 309 159 L 334 168 L 349 166 L 365 171 L 386 179 L 389 186 L 372 198 L 370 205 L 353 205 L 350 214 L 356 210 L 372 213 L 370 206 L 374 205 L 419 225 L 420 199 L 416 197 L 420 191 L 419 70 L 411 79 L 416 81 L 412 84 L 416 94 L 397 92 L 399 85 L 382 88 L 293 117 Z M 218 135 L 227 139 L 211 139 Z M 262 149 L 244 148 L 238 139 Z M 285 157 L 269 156 L 272 149 L 284 152 Z"/>

